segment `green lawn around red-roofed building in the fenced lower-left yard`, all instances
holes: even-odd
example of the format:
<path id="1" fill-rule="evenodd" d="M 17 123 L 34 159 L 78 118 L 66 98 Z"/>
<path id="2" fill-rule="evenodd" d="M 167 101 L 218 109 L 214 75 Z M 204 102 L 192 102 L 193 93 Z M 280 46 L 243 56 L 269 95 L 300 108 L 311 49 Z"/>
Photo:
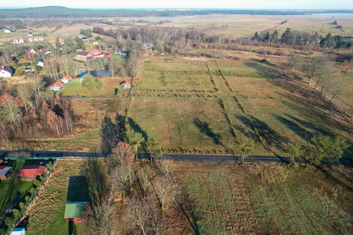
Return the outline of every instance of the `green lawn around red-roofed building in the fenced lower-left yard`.
<path id="1" fill-rule="evenodd" d="M 41 161 L 47 163 L 45 161 Z M 0 180 L 0 214 L 10 204 L 18 205 L 20 202 L 25 202 L 25 197 L 30 196 L 29 189 L 33 185 L 33 181 L 20 180 L 17 178 L 19 169 L 26 165 L 40 165 L 40 161 L 14 161 L 9 160 L 5 165 L 11 166 L 14 169 L 13 174 L 7 180 Z M 0 229 L 5 227 L 4 221 L 0 221 Z"/>

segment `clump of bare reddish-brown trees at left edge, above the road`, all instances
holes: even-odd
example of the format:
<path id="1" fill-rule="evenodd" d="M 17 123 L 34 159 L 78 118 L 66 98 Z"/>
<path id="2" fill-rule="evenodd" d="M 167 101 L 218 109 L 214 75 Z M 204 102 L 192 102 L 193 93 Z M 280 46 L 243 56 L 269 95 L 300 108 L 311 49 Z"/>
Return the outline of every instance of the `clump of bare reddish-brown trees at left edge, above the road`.
<path id="1" fill-rule="evenodd" d="M 40 77 L 17 86 L 13 94 L 16 98 L 9 96 L 0 108 L 5 120 L 0 123 L 2 146 L 12 148 L 11 143 L 18 140 L 63 137 L 74 132 L 71 99 L 52 97 Z"/>

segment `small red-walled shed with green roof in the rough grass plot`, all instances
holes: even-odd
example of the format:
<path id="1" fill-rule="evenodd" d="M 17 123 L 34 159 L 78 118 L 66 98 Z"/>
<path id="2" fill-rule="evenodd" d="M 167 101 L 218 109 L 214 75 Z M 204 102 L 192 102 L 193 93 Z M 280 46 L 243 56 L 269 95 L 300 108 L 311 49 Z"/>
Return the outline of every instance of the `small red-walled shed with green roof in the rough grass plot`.
<path id="1" fill-rule="evenodd" d="M 68 222 L 84 223 L 90 211 L 89 202 L 71 202 L 65 206 L 64 218 Z"/>

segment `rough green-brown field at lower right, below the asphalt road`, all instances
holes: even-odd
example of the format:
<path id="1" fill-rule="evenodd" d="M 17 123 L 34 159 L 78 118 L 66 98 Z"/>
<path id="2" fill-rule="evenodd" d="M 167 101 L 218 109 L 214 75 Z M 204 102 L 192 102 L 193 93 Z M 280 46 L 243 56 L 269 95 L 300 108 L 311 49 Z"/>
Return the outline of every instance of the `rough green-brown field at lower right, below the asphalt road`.
<path id="1" fill-rule="evenodd" d="M 177 163 L 174 172 L 199 234 L 352 234 L 352 168 Z"/>

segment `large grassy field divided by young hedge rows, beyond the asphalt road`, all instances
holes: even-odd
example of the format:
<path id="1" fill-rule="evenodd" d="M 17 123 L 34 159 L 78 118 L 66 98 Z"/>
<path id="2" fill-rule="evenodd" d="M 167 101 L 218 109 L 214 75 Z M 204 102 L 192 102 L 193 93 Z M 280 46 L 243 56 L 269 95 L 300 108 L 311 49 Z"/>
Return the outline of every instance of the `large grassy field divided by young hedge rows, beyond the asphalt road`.
<path id="1" fill-rule="evenodd" d="M 176 83 L 184 78 L 174 71 L 188 73 L 186 67 L 194 69 L 190 76 L 207 76 L 218 91 L 198 90 L 196 84 L 180 89 Z M 170 75 L 163 84 L 146 76 L 158 69 Z M 129 113 L 133 129 L 156 137 L 167 152 L 231 152 L 235 147 L 231 126 L 240 138 L 256 140 L 253 155 L 281 154 L 287 142 L 304 142 L 316 134 L 341 135 L 353 141 L 352 124 L 336 118 L 335 111 L 327 111 L 318 93 L 295 79 L 291 70 L 275 64 L 229 59 L 190 62 L 180 57 L 172 62 L 152 60 L 144 63 L 137 87 Z M 222 99 L 232 123 L 220 105 Z M 352 153 L 351 144 L 343 156 L 352 157 Z"/>

